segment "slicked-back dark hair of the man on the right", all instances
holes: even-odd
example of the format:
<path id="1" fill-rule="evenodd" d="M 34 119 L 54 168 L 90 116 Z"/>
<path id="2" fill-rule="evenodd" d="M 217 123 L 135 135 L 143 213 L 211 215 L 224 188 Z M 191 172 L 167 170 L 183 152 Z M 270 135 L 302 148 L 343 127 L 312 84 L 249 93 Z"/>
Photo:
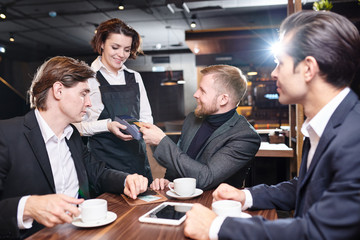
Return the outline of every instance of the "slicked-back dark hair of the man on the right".
<path id="1" fill-rule="evenodd" d="M 328 83 L 350 85 L 360 67 L 360 37 L 347 18 L 327 11 L 297 12 L 281 24 L 280 37 L 285 35 L 291 37 L 284 51 L 294 59 L 294 68 L 312 56 Z"/>

